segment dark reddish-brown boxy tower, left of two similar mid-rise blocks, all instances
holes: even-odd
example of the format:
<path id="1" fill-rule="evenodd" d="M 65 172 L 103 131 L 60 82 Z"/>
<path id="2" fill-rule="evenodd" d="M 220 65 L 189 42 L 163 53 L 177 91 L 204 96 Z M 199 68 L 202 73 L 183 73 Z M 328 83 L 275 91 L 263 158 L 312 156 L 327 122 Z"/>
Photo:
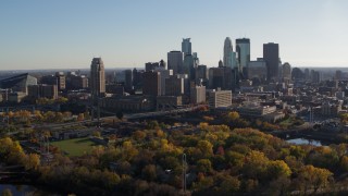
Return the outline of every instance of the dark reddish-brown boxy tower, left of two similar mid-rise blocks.
<path id="1" fill-rule="evenodd" d="M 142 94 L 151 96 L 161 95 L 161 73 L 149 71 L 144 72 Z"/>

